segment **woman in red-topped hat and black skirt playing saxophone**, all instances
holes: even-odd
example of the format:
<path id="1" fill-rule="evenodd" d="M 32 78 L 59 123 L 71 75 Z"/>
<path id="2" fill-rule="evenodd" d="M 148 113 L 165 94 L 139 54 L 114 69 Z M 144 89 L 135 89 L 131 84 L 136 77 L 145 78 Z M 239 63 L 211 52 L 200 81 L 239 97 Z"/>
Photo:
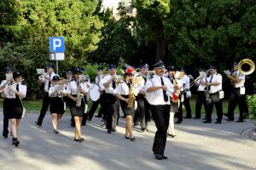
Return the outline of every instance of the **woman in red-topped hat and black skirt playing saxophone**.
<path id="1" fill-rule="evenodd" d="M 116 88 L 116 97 L 120 100 L 121 108 L 125 115 L 126 125 L 125 125 L 125 139 L 135 140 L 132 134 L 132 118 L 135 112 L 135 100 L 133 101 L 132 107 L 127 108 L 129 102 L 130 89 L 135 95 L 138 94 L 138 89 L 134 84 L 131 83 L 132 80 L 132 68 L 128 68 L 125 71 L 125 80 L 119 83 L 118 88 Z"/>

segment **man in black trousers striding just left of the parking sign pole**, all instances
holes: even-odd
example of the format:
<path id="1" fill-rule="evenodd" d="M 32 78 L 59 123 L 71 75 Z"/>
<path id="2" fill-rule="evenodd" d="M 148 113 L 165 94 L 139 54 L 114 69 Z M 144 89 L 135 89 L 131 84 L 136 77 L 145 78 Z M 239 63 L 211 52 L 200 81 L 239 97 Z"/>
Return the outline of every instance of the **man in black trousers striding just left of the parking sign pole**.
<path id="1" fill-rule="evenodd" d="M 44 77 L 40 80 L 38 80 L 38 83 L 41 85 L 44 83 L 44 97 L 43 97 L 43 103 L 42 108 L 40 111 L 40 115 L 38 116 L 38 121 L 35 122 L 39 127 L 42 125 L 42 122 L 44 120 L 44 116 L 49 108 L 49 87 L 50 83 L 52 82 L 52 77 L 56 76 L 54 72 L 54 65 L 46 65 L 46 74 Z"/>

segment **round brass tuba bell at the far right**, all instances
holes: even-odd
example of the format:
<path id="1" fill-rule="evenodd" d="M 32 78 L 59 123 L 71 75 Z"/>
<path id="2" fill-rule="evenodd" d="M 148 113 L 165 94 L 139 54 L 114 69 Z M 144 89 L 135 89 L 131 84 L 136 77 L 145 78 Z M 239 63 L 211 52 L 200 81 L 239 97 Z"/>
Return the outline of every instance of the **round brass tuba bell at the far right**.
<path id="1" fill-rule="evenodd" d="M 241 74 L 249 75 L 252 74 L 254 70 L 255 65 L 252 59 L 241 59 L 238 63 L 238 71 L 240 71 Z"/>

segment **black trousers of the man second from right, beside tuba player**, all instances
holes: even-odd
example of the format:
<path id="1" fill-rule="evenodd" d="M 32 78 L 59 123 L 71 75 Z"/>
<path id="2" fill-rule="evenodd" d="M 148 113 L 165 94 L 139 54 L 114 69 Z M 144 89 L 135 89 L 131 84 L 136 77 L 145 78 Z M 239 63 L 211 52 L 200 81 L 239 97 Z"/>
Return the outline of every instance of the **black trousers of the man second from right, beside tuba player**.
<path id="1" fill-rule="evenodd" d="M 211 95 L 211 94 L 210 94 Z M 212 122 L 212 110 L 213 105 L 215 105 L 217 111 L 217 121 L 221 122 L 223 117 L 223 107 L 222 107 L 222 100 L 220 99 L 218 102 L 207 103 L 207 121 Z"/>

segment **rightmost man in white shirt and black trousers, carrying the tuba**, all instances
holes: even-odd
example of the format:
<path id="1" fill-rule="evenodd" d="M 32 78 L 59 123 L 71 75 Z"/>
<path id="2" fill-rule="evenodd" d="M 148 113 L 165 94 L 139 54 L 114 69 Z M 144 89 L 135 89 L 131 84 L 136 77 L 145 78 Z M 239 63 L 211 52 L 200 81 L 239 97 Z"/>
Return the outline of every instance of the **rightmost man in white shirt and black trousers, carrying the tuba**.
<path id="1" fill-rule="evenodd" d="M 230 94 L 230 102 L 229 102 L 229 109 L 228 109 L 228 119 L 227 121 L 234 121 L 234 110 L 236 105 L 239 106 L 239 119 L 236 122 L 243 122 L 244 114 L 247 113 L 247 102 L 245 99 L 245 93 L 242 92 L 242 88 L 244 88 L 245 92 L 245 75 L 243 75 L 240 71 L 238 71 L 238 63 L 234 62 L 234 72 L 232 75 L 227 75 L 230 78 L 230 81 L 233 85 L 232 93 Z M 242 93 L 241 93 L 242 92 Z"/>

